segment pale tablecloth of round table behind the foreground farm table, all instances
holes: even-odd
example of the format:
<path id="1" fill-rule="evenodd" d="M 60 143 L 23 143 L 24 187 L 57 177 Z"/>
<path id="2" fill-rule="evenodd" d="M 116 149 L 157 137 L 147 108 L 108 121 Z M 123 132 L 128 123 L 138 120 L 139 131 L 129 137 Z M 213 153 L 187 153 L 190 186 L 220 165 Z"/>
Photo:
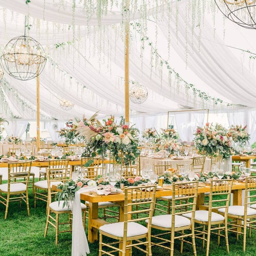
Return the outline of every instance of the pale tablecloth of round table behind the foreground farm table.
<path id="1" fill-rule="evenodd" d="M 172 168 L 177 168 L 177 164 L 192 164 L 192 159 L 174 160 L 170 158 L 155 159 L 149 157 L 140 157 L 140 169 L 143 170 L 146 164 L 171 164 Z M 211 158 L 206 158 L 204 162 L 204 171 L 210 171 L 211 169 Z"/>

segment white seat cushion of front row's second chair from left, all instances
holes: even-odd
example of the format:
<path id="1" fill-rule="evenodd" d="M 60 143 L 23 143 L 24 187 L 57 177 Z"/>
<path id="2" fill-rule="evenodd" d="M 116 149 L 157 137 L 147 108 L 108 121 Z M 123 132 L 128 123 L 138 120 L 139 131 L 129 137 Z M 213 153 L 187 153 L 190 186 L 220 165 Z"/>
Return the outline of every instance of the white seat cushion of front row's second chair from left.
<path id="1" fill-rule="evenodd" d="M 146 220 L 148 223 L 148 220 Z M 152 225 L 162 227 L 162 228 L 171 228 L 172 227 L 172 215 L 165 214 L 165 215 L 158 215 L 152 218 Z M 175 228 L 180 228 L 184 226 L 188 226 L 191 224 L 191 220 L 185 218 L 180 215 L 175 215 Z"/>

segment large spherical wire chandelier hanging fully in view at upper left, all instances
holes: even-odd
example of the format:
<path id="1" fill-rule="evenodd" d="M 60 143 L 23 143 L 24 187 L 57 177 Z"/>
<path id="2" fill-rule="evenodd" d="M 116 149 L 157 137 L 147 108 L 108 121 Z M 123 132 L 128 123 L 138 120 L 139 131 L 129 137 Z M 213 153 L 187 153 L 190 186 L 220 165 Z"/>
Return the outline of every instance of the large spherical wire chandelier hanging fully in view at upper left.
<path id="1" fill-rule="evenodd" d="M 45 52 L 41 44 L 26 36 L 26 17 L 24 36 L 16 36 L 5 45 L 1 62 L 7 74 L 22 81 L 33 79 L 43 71 Z"/>

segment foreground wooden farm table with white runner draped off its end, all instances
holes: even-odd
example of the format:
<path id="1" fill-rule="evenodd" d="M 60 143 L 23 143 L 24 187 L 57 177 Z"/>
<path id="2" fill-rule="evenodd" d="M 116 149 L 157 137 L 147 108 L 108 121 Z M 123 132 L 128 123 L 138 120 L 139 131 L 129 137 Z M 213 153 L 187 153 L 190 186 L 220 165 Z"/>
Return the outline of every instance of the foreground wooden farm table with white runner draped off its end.
<path id="1" fill-rule="evenodd" d="M 156 197 L 171 196 L 172 187 L 166 186 L 165 189 L 157 190 Z M 232 193 L 233 205 L 242 205 L 242 190 L 245 188 L 245 184 L 242 182 L 233 182 Z M 57 186 L 52 187 L 53 190 L 57 190 Z M 167 190 L 169 189 L 169 190 Z M 210 185 L 205 184 L 204 187 L 198 188 L 198 197 L 196 203 L 196 210 L 206 209 L 204 205 L 204 193 L 210 192 Z M 98 240 L 98 229 L 100 226 L 109 224 L 109 222 L 98 218 L 98 203 L 100 202 L 113 202 L 120 206 L 120 221 L 124 221 L 124 193 L 108 195 L 108 196 L 95 196 L 90 193 L 82 193 L 81 200 L 89 202 L 89 220 L 88 220 L 88 241 L 93 243 Z"/>

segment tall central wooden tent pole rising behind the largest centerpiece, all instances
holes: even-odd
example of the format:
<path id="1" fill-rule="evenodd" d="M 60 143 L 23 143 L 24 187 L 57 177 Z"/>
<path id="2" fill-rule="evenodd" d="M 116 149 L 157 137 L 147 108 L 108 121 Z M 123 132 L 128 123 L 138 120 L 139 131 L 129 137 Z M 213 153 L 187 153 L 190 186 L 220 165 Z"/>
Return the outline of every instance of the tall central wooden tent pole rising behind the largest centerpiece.
<path id="1" fill-rule="evenodd" d="M 129 0 L 126 0 L 126 8 L 129 10 Z M 128 18 L 128 17 L 127 17 Z M 125 57 L 124 57 L 124 108 L 125 124 L 129 124 L 130 99 L 129 99 L 129 20 L 125 25 Z"/>

